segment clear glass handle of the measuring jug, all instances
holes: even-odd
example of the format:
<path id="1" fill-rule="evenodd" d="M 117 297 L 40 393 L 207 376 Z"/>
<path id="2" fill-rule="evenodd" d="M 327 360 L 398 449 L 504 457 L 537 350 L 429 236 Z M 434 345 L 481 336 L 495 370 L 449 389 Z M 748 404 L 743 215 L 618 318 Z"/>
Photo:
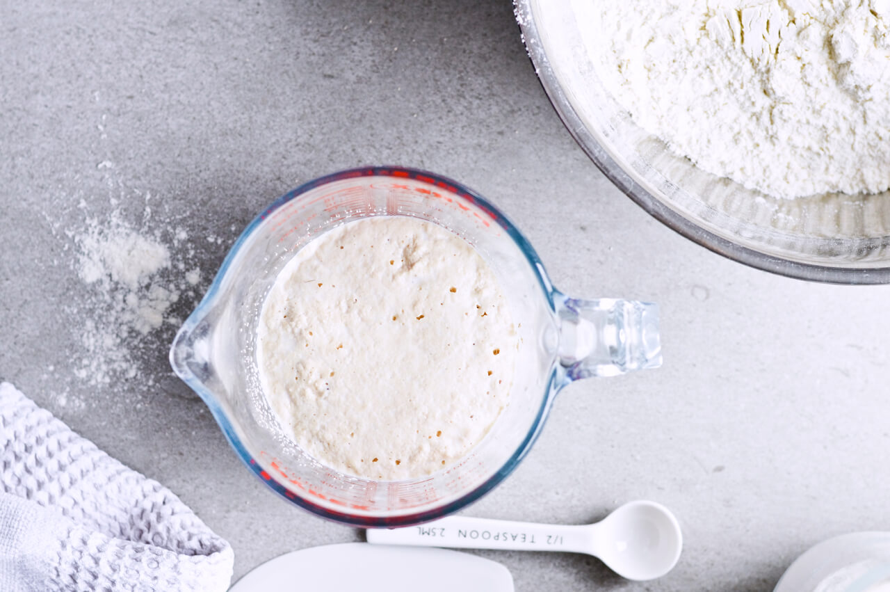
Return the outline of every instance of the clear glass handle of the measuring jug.
<path id="1" fill-rule="evenodd" d="M 559 360 L 570 380 L 661 365 L 658 304 L 563 296 L 556 313 Z"/>

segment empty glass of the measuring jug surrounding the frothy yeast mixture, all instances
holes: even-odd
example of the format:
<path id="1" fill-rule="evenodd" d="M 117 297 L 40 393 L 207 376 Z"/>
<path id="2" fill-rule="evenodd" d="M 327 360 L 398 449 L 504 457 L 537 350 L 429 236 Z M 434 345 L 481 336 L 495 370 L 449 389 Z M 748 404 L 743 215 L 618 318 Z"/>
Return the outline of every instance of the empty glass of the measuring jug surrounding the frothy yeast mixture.
<path id="1" fill-rule="evenodd" d="M 371 215 L 415 216 L 466 239 L 497 276 L 522 342 L 509 404 L 490 433 L 457 464 L 402 481 L 339 473 L 303 452 L 266 401 L 256 361 L 263 300 L 295 251 Z M 565 385 L 656 368 L 661 355 L 655 304 L 565 296 L 522 234 L 473 191 L 423 171 L 369 167 L 305 183 L 257 216 L 177 333 L 170 361 L 273 491 L 337 522 L 393 527 L 455 512 L 500 483 L 530 450 Z"/>

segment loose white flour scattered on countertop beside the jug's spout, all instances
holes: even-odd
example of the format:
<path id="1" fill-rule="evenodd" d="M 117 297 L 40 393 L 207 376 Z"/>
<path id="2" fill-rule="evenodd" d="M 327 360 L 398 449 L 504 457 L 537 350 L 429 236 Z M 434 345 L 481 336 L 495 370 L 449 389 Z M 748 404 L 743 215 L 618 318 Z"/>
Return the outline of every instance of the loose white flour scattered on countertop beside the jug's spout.
<path id="1" fill-rule="evenodd" d="M 138 407 L 143 396 L 188 393 L 167 353 L 213 278 L 202 267 L 222 261 L 238 230 L 231 224 L 208 239 L 206 231 L 187 230 L 195 220 L 175 213 L 174 202 L 106 182 L 107 199 L 61 194 L 44 212 L 59 244 L 53 264 L 73 283 L 59 336 L 69 355 L 41 377 L 53 401 L 69 409 L 112 400 Z"/>

